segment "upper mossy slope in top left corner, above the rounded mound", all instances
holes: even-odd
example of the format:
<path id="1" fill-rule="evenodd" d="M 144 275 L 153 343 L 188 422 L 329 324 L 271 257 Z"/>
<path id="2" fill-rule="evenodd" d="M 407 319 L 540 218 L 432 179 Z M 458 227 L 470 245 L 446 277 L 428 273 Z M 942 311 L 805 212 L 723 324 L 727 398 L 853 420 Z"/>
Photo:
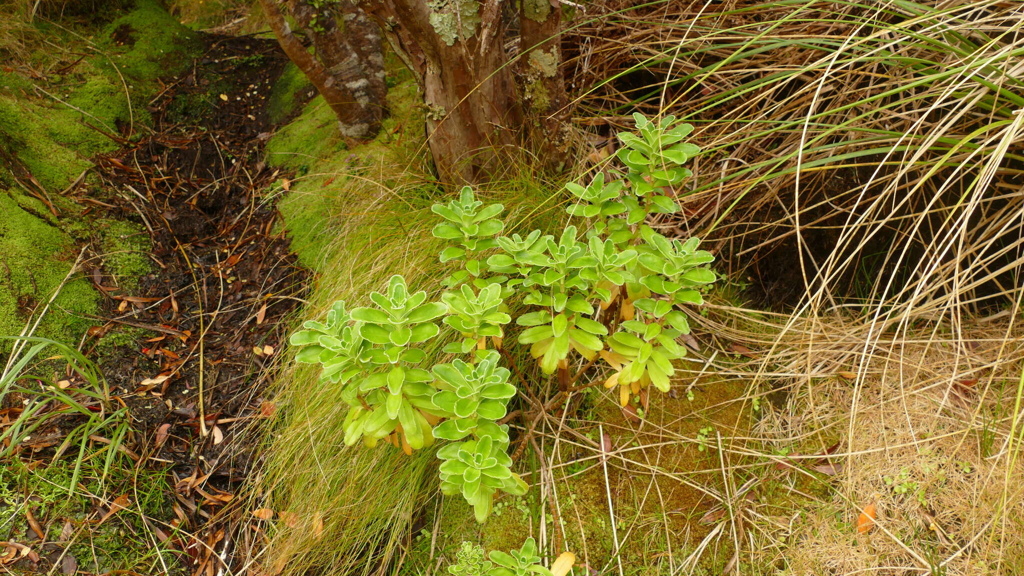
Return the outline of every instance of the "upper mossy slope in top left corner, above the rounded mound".
<path id="1" fill-rule="evenodd" d="M 46 34 L 94 55 L 49 83 L 0 76 L 0 149 L 59 191 L 91 166 L 90 158 L 118 147 L 103 132 L 151 123 L 146 105 L 160 90 L 158 79 L 183 71 L 202 46 L 155 0 L 137 0 L 95 42 L 52 28 Z"/>

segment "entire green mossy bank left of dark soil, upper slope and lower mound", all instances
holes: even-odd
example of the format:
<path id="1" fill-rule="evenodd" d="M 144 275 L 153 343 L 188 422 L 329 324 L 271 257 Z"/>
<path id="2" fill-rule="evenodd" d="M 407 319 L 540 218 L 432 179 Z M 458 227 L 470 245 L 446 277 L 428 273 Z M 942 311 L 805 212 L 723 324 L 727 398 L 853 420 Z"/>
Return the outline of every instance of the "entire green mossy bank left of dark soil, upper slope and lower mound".
<path id="1" fill-rule="evenodd" d="M 91 242 L 103 255 L 91 267 L 122 287 L 150 270 L 140 225 L 95 221 L 62 194 L 105 193 L 89 173 L 93 159 L 152 124 L 160 79 L 187 68 L 202 45 L 156 0 L 114 13 L 122 15 L 105 23 L 35 19 L 45 42 L 0 72 L 0 334 L 19 334 L 56 295 L 36 334 L 77 341 L 98 303 L 81 271 L 68 277 L 79 246 Z"/>

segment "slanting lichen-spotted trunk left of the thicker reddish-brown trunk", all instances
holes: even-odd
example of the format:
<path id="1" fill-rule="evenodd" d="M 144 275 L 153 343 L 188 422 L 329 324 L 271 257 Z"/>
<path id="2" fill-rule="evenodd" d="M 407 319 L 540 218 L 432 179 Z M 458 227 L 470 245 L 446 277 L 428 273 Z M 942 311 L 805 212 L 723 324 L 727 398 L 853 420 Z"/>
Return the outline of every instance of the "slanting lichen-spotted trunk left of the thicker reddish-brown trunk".
<path id="1" fill-rule="evenodd" d="M 342 0 L 346 16 L 338 26 L 337 14 L 328 8 L 318 11 L 307 0 L 294 0 L 292 14 L 313 43 L 315 57 L 292 33 L 275 0 L 260 0 L 270 29 L 288 57 L 309 79 L 338 117 L 343 136 L 373 138 L 385 116 L 384 58 L 380 33 L 361 10 Z M 358 36 L 356 49 L 348 35 Z M 373 39 L 376 39 L 374 42 Z M 376 52 L 374 47 L 376 46 Z"/>

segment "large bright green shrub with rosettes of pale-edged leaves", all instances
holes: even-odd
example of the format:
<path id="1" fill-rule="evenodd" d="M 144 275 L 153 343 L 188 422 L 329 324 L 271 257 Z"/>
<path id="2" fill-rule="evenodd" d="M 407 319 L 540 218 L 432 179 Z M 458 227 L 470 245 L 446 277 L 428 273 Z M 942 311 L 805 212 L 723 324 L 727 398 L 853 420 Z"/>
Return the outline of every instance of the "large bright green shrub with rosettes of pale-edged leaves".
<path id="1" fill-rule="evenodd" d="M 434 439 L 453 442 L 437 451 L 441 490 L 461 493 L 478 522 L 497 491 L 525 493 L 501 424 L 517 393 L 499 365 L 503 326 L 512 321 L 506 301 L 527 310 L 515 319 L 516 340 L 543 373 L 558 372 L 562 393 L 573 384 L 573 353 L 590 361 L 600 354 L 615 369 L 605 386 L 620 387 L 623 405 L 648 385 L 669 390 L 672 361 L 685 354 L 676 338 L 689 333 L 679 306 L 702 304 L 699 287 L 716 277 L 698 239 L 670 240 L 645 223 L 649 214 L 679 210 L 672 195 L 689 175 L 680 165 L 696 151 L 681 141 L 690 128 L 672 117 L 655 124 L 636 115 L 636 122 L 642 137 L 621 135 L 625 173 L 567 186 L 581 201 L 567 212 L 589 224 L 582 230 L 565 226 L 557 239 L 542 230 L 498 236 L 504 207 L 484 206 L 467 186 L 432 209 L 444 220 L 433 234 L 452 242 L 440 261 L 461 264 L 440 282 L 450 292 L 439 302 L 410 293 L 394 275 L 387 294 L 370 294 L 373 307 L 347 312 L 338 302 L 326 323 L 307 321 L 292 336 L 292 345 L 304 347 L 299 362 L 321 364 L 322 380 L 344 387 L 346 444 L 361 439 L 372 447 L 386 438 L 411 453 Z M 458 333 L 444 352 L 465 359 L 428 369 L 418 345 L 439 336 L 441 317 Z"/>

